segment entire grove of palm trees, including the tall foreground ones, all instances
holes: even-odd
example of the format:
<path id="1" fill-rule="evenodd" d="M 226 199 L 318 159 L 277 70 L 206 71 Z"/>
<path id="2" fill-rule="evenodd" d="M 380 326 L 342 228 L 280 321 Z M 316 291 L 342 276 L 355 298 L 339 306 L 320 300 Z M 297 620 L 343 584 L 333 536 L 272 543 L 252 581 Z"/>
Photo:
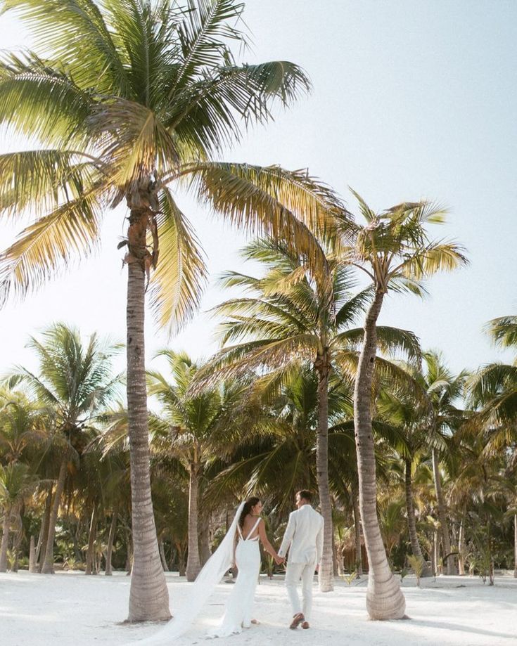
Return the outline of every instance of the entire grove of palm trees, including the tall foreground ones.
<path id="1" fill-rule="evenodd" d="M 408 571 L 517 576 L 517 362 L 454 373 L 411 330 L 378 325 L 386 298 L 468 264 L 430 234 L 445 211 L 376 212 L 352 190 L 352 212 L 308 172 L 221 160 L 310 89 L 294 63 L 236 60 L 241 2 L 3 7 L 36 51 L 2 56 L 0 122 L 36 147 L 0 155 L 0 218 L 20 225 L 0 304 L 87 256 L 103 217 L 129 224 L 125 344 L 49 321 L 27 339 L 37 369 L 2 366 L 0 571 L 127 571 L 129 621 L 168 619 L 164 571 L 193 581 L 240 500 L 262 498 L 278 545 L 312 489 L 319 586 L 369 573 L 372 619 L 404 616 Z M 164 348 L 146 366 L 146 303 L 174 333 L 208 277 L 181 192 L 248 233 L 254 269 L 220 279 L 215 356 Z M 517 349 L 517 316 L 486 333 Z M 266 555 L 262 569 L 276 571 Z"/>

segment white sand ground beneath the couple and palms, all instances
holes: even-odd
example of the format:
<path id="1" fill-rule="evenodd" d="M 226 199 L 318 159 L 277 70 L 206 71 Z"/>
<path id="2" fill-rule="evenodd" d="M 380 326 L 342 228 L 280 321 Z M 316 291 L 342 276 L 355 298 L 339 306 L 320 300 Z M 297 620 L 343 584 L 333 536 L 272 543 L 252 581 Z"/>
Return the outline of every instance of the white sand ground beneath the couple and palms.
<path id="1" fill-rule="evenodd" d="M 167 574 L 172 609 L 181 609 L 189 583 Z M 475 577 L 440 576 L 403 582 L 410 621 L 369 621 L 364 595 L 366 579 L 348 587 L 336 581 L 333 593 L 315 589 L 312 627 L 288 630 L 288 602 L 281 578 L 261 579 L 255 616 L 260 626 L 241 635 L 205 640 L 206 628 L 222 614 L 231 585 L 222 583 L 203 617 L 176 643 L 181 646 L 416 646 L 432 644 L 495 646 L 517 644 L 517 580 L 498 576 L 496 585 Z M 157 625 L 121 625 L 127 616 L 129 577 L 0 574 L 0 644 L 2 646 L 121 645 L 137 642 L 159 629 Z"/>

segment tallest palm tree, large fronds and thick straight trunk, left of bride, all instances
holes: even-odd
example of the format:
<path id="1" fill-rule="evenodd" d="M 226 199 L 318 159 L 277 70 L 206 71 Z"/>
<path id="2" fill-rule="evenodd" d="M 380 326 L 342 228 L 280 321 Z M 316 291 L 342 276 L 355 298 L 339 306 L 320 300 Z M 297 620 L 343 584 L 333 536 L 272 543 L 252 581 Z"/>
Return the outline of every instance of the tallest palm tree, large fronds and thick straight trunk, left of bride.
<path id="1" fill-rule="evenodd" d="M 303 172 L 216 161 L 242 124 L 266 122 L 309 81 L 287 61 L 236 63 L 230 45 L 245 42 L 235 26 L 238 0 L 4 0 L 3 7 L 32 27 L 38 52 L 1 63 L 0 122 L 41 146 L 0 156 L 0 213 L 34 217 L 0 255 L 0 301 L 84 257 L 99 242 L 106 209 L 125 201 L 129 621 L 167 619 L 148 466 L 146 276 L 156 269 L 150 292 L 161 323 L 174 328 L 196 309 L 206 268 L 172 185 L 237 227 L 284 238 L 324 271 L 309 226 L 333 233 L 330 216 L 340 208 L 333 193 Z"/>

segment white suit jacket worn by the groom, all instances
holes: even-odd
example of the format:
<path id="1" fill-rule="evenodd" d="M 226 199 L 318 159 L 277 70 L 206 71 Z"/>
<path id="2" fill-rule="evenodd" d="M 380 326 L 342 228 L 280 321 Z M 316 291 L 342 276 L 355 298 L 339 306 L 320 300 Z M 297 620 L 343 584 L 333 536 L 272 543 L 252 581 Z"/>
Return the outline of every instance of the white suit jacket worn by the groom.
<path id="1" fill-rule="evenodd" d="M 323 517 L 311 505 L 291 512 L 279 556 L 289 550 L 288 563 L 319 563 L 323 555 Z"/>

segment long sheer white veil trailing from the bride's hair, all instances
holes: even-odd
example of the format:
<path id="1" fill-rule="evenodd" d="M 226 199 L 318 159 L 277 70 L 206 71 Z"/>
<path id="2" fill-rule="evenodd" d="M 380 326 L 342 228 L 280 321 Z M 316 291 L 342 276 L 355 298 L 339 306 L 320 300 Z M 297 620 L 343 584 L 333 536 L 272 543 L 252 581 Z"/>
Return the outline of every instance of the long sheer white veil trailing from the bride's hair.
<path id="1" fill-rule="evenodd" d="M 230 529 L 222 539 L 221 544 L 205 563 L 198 574 L 196 581 L 188 590 L 184 606 L 176 616 L 164 626 L 158 633 L 137 643 L 148 646 L 169 645 L 185 633 L 195 621 L 203 606 L 212 595 L 215 586 L 221 581 L 224 573 L 230 569 L 234 556 L 234 538 L 237 531 L 238 519 L 241 517 L 244 503 L 238 506 Z"/>

